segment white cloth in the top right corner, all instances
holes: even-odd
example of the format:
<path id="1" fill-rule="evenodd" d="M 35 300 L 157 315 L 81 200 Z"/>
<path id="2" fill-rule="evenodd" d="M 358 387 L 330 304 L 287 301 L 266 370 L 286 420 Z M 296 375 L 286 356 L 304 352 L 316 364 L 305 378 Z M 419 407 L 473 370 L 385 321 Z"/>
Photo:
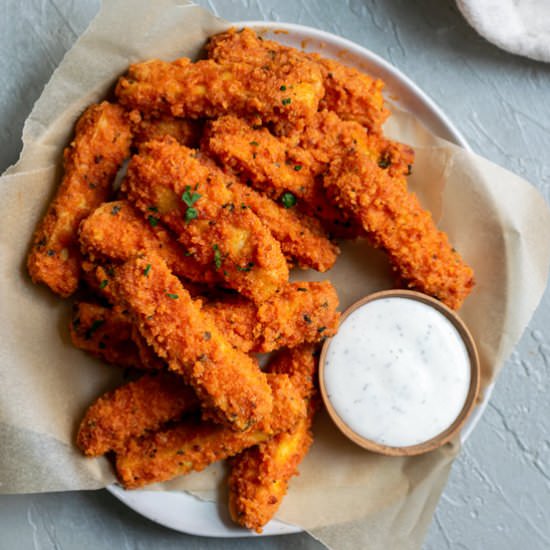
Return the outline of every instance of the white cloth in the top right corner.
<path id="1" fill-rule="evenodd" d="M 550 62 L 550 0 L 457 0 L 457 5 L 489 42 Z"/>

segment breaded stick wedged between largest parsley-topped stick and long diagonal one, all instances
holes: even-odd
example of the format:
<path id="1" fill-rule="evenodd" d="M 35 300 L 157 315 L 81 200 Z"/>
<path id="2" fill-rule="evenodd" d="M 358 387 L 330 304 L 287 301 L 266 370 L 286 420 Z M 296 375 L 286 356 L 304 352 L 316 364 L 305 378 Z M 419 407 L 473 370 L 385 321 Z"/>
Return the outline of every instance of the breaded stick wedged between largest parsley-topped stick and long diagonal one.
<path id="1" fill-rule="evenodd" d="M 149 211 L 150 216 L 155 212 Z M 154 222 L 153 222 L 154 223 Z M 92 260 L 124 262 L 139 252 L 156 252 L 178 275 L 196 283 L 213 283 L 219 277 L 189 256 L 162 226 L 154 227 L 128 201 L 96 208 L 80 225 L 82 252 Z"/>

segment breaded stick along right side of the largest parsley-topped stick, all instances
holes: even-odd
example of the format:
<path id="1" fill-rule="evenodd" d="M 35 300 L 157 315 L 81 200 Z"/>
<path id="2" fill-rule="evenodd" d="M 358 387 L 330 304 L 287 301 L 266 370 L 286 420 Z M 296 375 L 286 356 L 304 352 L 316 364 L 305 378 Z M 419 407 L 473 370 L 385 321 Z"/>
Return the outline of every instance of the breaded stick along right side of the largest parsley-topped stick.
<path id="1" fill-rule="evenodd" d="M 336 262 L 340 249 L 330 242 L 320 222 L 285 208 L 254 189 L 235 182 L 231 186 L 235 203 L 246 204 L 281 245 L 291 262 L 302 269 L 328 271 Z"/>

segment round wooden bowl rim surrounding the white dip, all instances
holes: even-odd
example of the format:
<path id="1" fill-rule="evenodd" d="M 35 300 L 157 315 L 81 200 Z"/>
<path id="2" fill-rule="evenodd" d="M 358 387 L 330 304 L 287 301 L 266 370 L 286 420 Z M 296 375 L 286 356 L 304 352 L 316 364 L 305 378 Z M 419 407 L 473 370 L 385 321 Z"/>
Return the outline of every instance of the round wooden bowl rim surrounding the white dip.
<path id="1" fill-rule="evenodd" d="M 481 378 L 477 348 L 470 331 L 468 330 L 464 322 L 460 319 L 460 317 L 452 309 L 448 308 L 445 304 L 443 304 L 439 300 L 436 300 L 435 298 L 412 290 L 384 290 L 382 292 L 375 292 L 374 294 L 370 294 L 350 306 L 343 313 L 341 322 L 344 322 L 351 313 L 353 313 L 361 306 L 367 304 L 368 302 L 372 302 L 374 300 L 379 300 L 382 298 L 408 298 L 427 304 L 433 307 L 438 312 L 442 313 L 449 321 L 451 321 L 453 326 L 456 328 L 464 342 L 464 345 L 466 346 L 466 351 L 468 353 L 471 368 L 470 387 L 460 413 L 447 429 L 445 429 L 435 437 L 432 437 L 431 439 L 415 445 L 403 447 L 388 446 L 357 434 L 342 420 L 342 418 L 340 418 L 328 397 L 325 387 L 325 359 L 332 338 L 328 338 L 325 341 L 319 359 L 319 385 L 321 388 L 321 395 L 333 422 L 346 437 L 351 439 L 354 443 L 357 443 L 357 445 L 360 445 L 361 447 L 369 451 L 389 456 L 413 456 L 427 453 L 429 451 L 437 449 L 438 447 L 441 447 L 442 445 L 453 439 L 455 435 L 461 430 L 464 422 L 466 422 L 466 419 L 476 405 Z"/>

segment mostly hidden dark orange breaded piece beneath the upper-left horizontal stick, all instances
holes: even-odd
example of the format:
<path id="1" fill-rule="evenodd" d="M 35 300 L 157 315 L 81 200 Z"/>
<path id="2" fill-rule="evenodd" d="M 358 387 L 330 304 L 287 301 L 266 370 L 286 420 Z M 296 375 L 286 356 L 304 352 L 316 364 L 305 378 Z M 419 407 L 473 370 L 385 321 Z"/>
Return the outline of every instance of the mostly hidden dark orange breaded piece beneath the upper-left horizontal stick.
<path id="1" fill-rule="evenodd" d="M 132 145 L 140 146 L 152 139 L 172 136 L 178 143 L 187 147 L 198 147 L 203 122 L 188 118 L 174 118 L 171 115 L 142 117 L 139 111 L 130 112 L 132 123 Z"/>

